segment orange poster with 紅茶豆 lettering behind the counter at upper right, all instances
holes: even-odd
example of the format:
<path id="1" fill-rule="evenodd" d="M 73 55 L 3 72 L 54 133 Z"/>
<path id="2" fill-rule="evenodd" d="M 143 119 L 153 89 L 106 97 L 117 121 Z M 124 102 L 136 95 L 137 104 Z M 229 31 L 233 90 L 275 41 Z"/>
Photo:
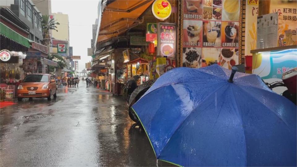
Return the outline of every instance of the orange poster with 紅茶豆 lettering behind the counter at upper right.
<path id="1" fill-rule="evenodd" d="M 297 1 L 270 1 L 270 13 L 274 12 L 278 12 L 278 36 L 283 34 L 285 39 L 289 38 L 285 31 L 291 29 L 291 45 L 296 45 Z"/>

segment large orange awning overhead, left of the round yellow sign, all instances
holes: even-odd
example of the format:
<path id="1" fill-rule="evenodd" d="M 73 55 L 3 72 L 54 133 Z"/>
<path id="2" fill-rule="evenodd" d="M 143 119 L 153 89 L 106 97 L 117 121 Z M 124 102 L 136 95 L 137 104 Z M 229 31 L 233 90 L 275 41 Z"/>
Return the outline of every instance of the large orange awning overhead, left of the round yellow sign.
<path id="1" fill-rule="evenodd" d="M 115 0 L 107 4 L 102 13 L 97 43 L 116 37 L 141 23 L 140 15 L 152 0 Z"/>

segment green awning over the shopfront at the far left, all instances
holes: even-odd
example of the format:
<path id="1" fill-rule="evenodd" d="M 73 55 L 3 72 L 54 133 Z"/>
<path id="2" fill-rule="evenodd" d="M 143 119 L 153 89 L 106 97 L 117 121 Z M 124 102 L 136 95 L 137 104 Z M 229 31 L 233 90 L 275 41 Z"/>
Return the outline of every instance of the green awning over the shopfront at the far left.
<path id="1" fill-rule="evenodd" d="M 21 36 L 19 33 L 13 31 L 11 28 L 7 27 L 3 23 L 0 23 L 0 34 L 6 36 L 7 38 L 30 48 L 29 39 Z"/>

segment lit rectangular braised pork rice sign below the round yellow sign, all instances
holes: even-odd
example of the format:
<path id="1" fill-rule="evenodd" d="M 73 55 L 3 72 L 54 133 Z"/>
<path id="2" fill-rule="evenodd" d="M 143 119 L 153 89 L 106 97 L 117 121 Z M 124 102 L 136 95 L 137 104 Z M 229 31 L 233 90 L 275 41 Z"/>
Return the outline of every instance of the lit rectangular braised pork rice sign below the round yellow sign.
<path id="1" fill-rule="evenodd" d="M 176 49 L 176 25 L 170 23 L 158 23 L 158 55 L 175 58 Z"/>

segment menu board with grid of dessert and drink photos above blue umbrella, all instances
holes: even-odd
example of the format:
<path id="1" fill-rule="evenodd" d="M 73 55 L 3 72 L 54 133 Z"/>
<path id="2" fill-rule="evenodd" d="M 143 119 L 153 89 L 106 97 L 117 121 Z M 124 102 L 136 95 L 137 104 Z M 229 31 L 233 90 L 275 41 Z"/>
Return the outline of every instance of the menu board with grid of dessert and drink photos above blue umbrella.
<path id="1" fill-rule="evenodd" d="M 240 0 L 183 1 L 183 66 L 239 63 Z"/>

